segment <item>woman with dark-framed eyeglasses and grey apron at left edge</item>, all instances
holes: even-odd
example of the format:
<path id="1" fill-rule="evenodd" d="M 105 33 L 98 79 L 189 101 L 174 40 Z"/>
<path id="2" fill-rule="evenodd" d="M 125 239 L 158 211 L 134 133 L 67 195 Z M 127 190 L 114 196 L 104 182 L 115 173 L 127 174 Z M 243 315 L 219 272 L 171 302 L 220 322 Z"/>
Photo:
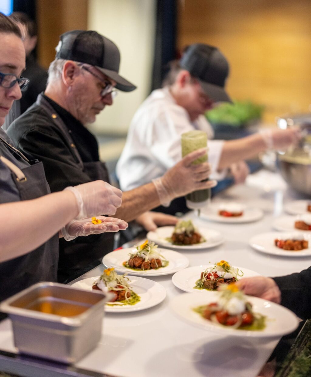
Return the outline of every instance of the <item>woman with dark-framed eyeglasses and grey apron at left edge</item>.
<path id="1" fill-rule="evenodd" d="M 0 13 L 0 125 L 29 80 L 21 32 Z M 0 300 L 42 280 L 57 280 L 58 238 L 126 229 L 114 215 L 122 192 L 94 181 L 50 193 L 43 165 L 28 161 L 0 128 Z M 90 216 L 98 216 L 93 224 Z"/>

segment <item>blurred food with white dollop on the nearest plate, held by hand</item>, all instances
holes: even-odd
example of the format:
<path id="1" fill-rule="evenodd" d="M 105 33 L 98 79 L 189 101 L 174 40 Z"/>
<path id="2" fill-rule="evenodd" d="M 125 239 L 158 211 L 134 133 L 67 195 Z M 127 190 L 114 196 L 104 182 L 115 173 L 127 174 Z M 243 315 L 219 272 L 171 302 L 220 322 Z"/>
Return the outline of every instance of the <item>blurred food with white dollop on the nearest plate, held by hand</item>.
<path id="1" fill-rule="evenodd" d="M 240 330 L 263 330 L 265 316 L 254 313 L 247 296 L 236 284 L 222 285 L 216 302 L 193 308 L 203 318 L 218 325 Z"/>

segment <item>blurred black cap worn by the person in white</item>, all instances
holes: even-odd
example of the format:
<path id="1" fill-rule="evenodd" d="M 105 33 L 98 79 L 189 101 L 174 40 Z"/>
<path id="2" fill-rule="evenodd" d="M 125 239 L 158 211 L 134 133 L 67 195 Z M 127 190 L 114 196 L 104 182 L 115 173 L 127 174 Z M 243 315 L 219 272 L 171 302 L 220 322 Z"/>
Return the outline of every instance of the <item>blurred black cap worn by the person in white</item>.
<path id="1" fill-rule="evenodd" d="M 232 102 L 224 89 L 229 64 L 216 47 L 204 43 L 191 44 L 179 63 L 199 81 L 204 92 L 215 102 Z"/>

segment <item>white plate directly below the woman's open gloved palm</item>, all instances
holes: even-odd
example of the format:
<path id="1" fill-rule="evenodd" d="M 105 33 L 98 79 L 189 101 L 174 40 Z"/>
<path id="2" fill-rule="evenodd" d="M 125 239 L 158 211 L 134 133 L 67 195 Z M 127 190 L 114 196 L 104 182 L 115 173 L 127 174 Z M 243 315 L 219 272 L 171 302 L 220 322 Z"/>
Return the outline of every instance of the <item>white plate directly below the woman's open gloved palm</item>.
<path id="1" fill-rule="evenodd" d="M 160 267 L 157 270 L 132 270 L 123 266 L 123 262 L 129 260 L 129 253 L 135 253 L 135 248 L 129 247 L 127 249 L 112 251 L 103 257 L 103 264 L 108 268 L 115 268 L 121 273 L 128 273 L 136 276 L 160 276 L 173 274 L 182 268 L 188 267 L 189 259 L 177 251 L 160 249 L 158 251 L 165 259 L 169 261 L 166 267 Z"/>

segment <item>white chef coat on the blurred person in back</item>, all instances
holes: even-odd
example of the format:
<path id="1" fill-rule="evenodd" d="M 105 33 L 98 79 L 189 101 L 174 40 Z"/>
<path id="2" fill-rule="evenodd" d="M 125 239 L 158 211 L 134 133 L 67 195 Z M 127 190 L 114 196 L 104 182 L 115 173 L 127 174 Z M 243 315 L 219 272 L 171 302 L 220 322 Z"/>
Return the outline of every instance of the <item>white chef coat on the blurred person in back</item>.
<path id="1" fill-rule="evenodd" d="M 213 129 L 204 115 L 192 122 L 184 107 L 176 104 L 168 87 L 154 90 L 136 111 L 116 166 L 121 190 L 149 183 L 180 161 L 181 134 L 193 129 L 205 131 L 208 139 L 213 137 Z M 208 140 L 212 178 L 219 178 L 216 170 L 223 143 Z"/>

